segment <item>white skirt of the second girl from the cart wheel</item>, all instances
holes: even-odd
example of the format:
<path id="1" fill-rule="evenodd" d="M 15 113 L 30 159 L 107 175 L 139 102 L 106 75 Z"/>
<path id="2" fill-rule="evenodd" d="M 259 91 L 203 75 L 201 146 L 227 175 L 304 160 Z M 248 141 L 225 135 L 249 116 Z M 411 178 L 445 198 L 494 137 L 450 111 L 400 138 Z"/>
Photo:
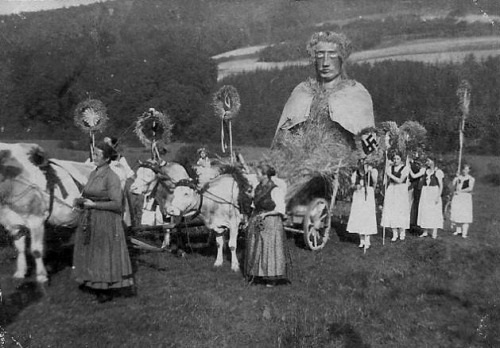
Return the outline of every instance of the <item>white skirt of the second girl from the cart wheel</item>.
<path id="1" fill-rule="evenodd" d="M 380 224 L 390 228 L 410 228 L 410 202 L 408 201 L 407 184 L 391 183 L 389 185 L 385 192 Z"/>

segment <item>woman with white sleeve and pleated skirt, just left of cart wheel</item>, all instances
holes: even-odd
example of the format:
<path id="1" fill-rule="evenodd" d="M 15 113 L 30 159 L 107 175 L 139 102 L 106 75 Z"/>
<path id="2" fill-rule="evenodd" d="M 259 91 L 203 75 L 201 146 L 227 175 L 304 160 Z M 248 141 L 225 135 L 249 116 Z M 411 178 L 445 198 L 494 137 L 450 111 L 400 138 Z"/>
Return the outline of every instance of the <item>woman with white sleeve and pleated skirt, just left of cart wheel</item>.
<path id="1" fill-rule="evenodd" d="M 273 178 L 276 172 L 267 165 L 257 169 L 254 211 L 246 238 L 245 276 L 249 282 L 263 281 L 273 286 L 290 280 L 290 257 L 285 246 L 283 217 L 286 184 Z"/>

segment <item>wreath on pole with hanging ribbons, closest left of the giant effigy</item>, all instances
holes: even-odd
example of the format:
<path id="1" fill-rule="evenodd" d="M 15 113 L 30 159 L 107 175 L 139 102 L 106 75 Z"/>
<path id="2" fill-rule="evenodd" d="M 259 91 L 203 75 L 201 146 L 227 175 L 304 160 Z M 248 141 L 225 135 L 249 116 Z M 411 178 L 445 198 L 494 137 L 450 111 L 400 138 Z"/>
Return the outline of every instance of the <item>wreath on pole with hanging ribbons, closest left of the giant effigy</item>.
<path id="1" fill-rule="evenodd" d="M 233 132 L 231 123 L 240 112 L 241 103 L 238 91 L 231 85 L 222 86 L 216 93 L 214 93 L 212 105 L 214 107 L 215 116 L 221 120 L 222 152 L 226 152 L 226 149 L 228 148 L 225 137 L 225 133 L 228 132 L 229 152 L 231 154 L 231 163 L 233 163 Z"/>

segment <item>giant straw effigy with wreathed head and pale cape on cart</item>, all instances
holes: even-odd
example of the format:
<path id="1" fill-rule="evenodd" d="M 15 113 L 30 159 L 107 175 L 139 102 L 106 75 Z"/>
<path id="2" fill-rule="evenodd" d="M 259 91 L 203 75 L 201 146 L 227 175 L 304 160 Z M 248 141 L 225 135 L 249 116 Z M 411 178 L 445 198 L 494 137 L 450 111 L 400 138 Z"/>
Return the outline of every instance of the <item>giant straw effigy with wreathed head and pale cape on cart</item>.
<path id="1" fill-rule="evenodd" d="M 278 121 L 269 158 L 288 181 L 289 200 L 307 200 L 325 185 L 338 186 L 341 196 L 342 191 L 346 193 L 350 168 L 364 156 L 359 135 L 375 127 L 370 93 L 347 76 L 351 42 L 346 36 L 317 32 L 307 51 L 316 76 L 292 91 Z M 318 177 L 320 180 L 315 179 Z M 339 185 L 332 185 L 332 178 L 340 180 Z"/>

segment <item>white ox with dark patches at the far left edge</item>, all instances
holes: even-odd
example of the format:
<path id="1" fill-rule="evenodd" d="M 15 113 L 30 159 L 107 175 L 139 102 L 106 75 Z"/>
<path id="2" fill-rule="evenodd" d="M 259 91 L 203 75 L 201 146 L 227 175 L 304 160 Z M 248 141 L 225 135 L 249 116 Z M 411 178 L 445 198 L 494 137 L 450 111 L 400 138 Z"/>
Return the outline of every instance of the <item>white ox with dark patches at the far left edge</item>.
<path id="1" fill-rule="evenodd" d="M 83 186 L 94 165 L 53 160 L 45 167 L 56 174 L 57 183 L 51 195 L 47 190 L 47 178 L 40 167 L 33 164 L 29 154 L 41 150 L 36 144 L 0 143 L 0 224 L 13 236 L 17 249 L 15 278 L 24 278 L 26 264 L 26 235 L 31 233 L 31 253 L 35 259 L 36 279 L 47 281 L 43 263 L 44 223 L 54 226 L 74 227 L 78 212 L 73 209 L 75 198 L 80 196 L 76 182 Z M 76 182 L 75 182 L 76 181 Z"/>

